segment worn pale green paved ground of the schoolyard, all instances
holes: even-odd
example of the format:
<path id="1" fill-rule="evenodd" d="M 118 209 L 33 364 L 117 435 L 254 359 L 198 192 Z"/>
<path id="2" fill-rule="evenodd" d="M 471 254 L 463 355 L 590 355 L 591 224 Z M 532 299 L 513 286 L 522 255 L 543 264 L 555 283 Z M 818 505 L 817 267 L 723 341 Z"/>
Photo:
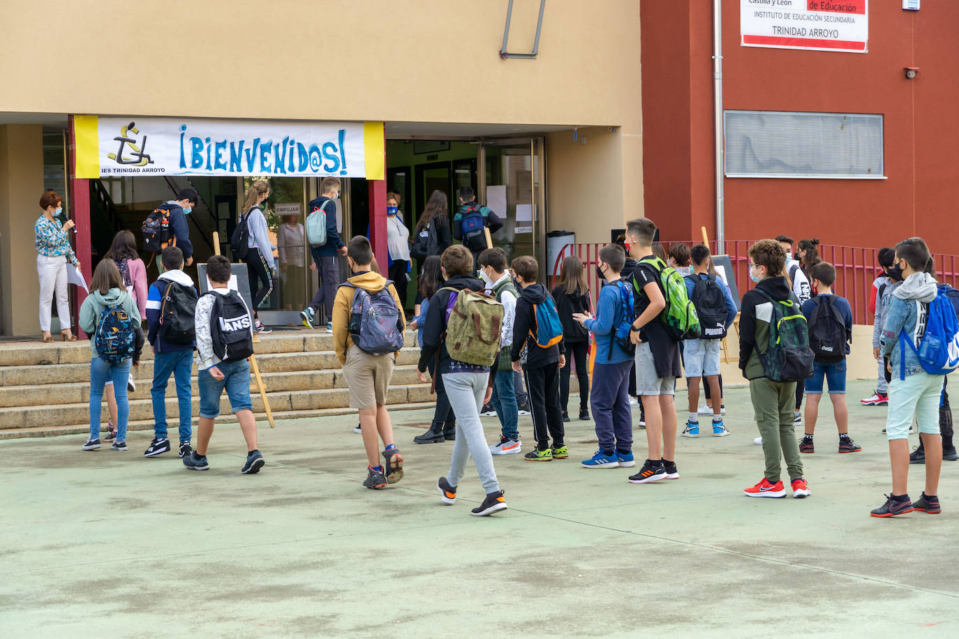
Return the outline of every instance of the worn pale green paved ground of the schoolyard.
<path id="1" fill-rule="evenodd" d="M 395 413 L 408 474 L 378 492 L 348 417 L 262 428 L 254 476 L 230 426 L 205 473 L 141 457 L 146 433 L 128 453 L 3 441 L 0 634 L 956 636 L 959 463 L 943 514 L 869 517 L 889 490 L 885 409 L 858 405 L 871 389 L 851 383 L 861 453 L 836 453 L 825 410 L 805 500 L 742 495 L 762 469 L 745 389 L 728 392 L 732 436 L 681 439 L 679 481 L 577 468 L 595 436 L 573 422 L 570 460 L 496 458 L 510 509 L 488 518 L 469 515 L 472 469 L 440 504 L 450 445 L 411 445 L 424 411 Z"/>

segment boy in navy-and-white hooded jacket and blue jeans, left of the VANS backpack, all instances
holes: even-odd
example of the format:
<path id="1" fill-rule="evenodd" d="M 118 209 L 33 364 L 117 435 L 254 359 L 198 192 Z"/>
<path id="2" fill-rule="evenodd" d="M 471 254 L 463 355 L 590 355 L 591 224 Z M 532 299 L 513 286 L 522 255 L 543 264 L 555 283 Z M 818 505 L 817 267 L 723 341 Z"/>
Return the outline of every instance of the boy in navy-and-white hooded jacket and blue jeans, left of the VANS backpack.
<path id="1" fill-rule="evenodd" d="M 159 335 L 160 317 L 167 288 L 171 284 L 188 286 L 194 298 L 197 289 L 190 276 L 184 273 L 183 253 L 176 246 L 163 249 L 160 256 L 163 273 L 150 285 L 147 293 L 147 339 L 153 348 L 153 441 L 144 451 L 144 457 L 155 457 L 170 450 L 167 438 L 167 382 L 173 374 L 176 383 L 176 400 L 179 405 L 179 456 L 193 451 L 190 440 L 193 438 L 193 395 L 190 376 L 193 371 L 193 352 L 197 348 L 196 340 L 188 344 L 170 344 Z M 193 308 L 190 308 L 193 314 Z"/>

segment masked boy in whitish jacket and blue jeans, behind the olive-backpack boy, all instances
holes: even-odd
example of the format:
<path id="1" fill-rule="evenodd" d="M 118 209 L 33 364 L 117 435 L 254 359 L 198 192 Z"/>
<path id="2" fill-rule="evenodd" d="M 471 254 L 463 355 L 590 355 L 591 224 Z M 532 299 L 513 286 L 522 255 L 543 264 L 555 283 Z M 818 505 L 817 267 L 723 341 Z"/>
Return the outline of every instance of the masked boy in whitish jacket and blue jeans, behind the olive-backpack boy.
<path id="1" fill-rule="evenodd" d="M 509 352 L 513 345 L 513 325 L 516 322 L 516 301 L 520 294 L 506 272 L 506 253 L 502 248 L 487 248 L 479 254 L 479 276 L 486 285 L 486 292 L 503 305 L 503 327 L 500 330 L 500 357 L 493 376 L 491 399 L 503 432 L 500 441 L 489 447 L 494 455 L 517 455 L 523 450 L 520 441 L 519 407 L 516 404 L 516 387 L 513 385 L 513 368 Z"/>

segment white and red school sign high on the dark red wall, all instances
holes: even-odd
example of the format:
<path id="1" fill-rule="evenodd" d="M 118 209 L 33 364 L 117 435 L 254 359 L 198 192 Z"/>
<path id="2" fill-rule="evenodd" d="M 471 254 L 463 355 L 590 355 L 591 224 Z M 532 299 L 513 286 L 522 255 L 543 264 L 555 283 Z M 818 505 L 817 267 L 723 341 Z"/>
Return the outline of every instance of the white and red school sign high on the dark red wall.
<path id="1" fill-rule="evenodd" d="M 744 47 L 864 54 L 869 0 L 739 0 Z"/>

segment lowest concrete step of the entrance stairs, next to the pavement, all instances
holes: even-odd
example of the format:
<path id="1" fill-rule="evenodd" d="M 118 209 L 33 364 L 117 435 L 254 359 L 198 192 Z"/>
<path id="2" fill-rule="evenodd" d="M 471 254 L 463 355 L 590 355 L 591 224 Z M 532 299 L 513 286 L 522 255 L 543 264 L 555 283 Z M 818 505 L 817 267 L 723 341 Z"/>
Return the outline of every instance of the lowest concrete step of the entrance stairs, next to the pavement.
<path id="1" fill-rule="evenodd" d="M 432 402 L 435 396 L 430 395 L 430 385 L 396 385 L 390 386 L 386 395 L 387 404 L 393 406 L 405 403 Z M 316 411 L 323 408 L 344 408 L 349 405 L 349 391 L 345 388 L 328 388 L 308 391 L 280 391 L 267 394 L 269 406 L 274 412 L 284 411 Z M 258 416 L 264 412 L 263 400 L 259 393 L 251 394 L 253 412 Z M 199 415 L 199 396 L 193 397 L 193 415 Z M 177 422 L 179 414 L 175 398 L 168 398 L 167 422 Z M 106 409 L 104 417 L 106 422 Z M 221 399 L 221 411 L 230 414 L 229 399 L 225 393 Z M 61 424 L 82 423 L 88 419 L 89 406 L 87 403 L 56 403 L 31 406 L 9 406 L 0 408 L 0 430 L 16 428 L 32 428 L 36 426 L 58 426 Z M 131 399 L 129 402 L 129 421 L 152 421 L 153 407 L 151 399 Z"/>

